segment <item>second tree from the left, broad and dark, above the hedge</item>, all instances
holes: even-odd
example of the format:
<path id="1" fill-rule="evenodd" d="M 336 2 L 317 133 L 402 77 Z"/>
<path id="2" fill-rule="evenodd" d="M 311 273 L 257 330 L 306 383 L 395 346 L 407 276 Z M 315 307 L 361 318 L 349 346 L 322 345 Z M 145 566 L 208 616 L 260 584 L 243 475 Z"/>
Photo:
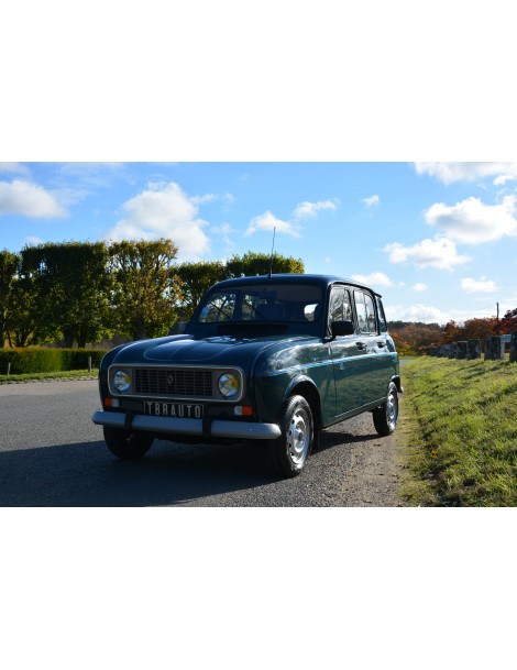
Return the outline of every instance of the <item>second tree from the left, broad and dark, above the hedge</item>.
<path id="1" fill-rule="evenodd" d="M 110 275 L 105 242 L 47 243 L 22 250 L 46 329 L 66 347 L 86 347 L 110 334 Z"/>

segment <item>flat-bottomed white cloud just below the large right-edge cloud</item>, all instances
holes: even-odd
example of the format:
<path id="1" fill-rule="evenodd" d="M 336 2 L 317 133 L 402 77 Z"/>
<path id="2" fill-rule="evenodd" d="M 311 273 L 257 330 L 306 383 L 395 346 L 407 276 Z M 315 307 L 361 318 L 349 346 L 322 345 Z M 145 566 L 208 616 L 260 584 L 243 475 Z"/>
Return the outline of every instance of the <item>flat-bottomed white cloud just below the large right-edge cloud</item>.
<path id="1" fill-rule="evenodd" d="M 417 267 L 437 267 L 452 270 L 463 265 L 471 259 L 459 255 L 454 242 L 441 238 L 439 240 L 422 240 L 413 246 L 404 246 L 399 242 L 387 244 L 383 251 L 389 254 L 392 263 L 411 263 Z"/>

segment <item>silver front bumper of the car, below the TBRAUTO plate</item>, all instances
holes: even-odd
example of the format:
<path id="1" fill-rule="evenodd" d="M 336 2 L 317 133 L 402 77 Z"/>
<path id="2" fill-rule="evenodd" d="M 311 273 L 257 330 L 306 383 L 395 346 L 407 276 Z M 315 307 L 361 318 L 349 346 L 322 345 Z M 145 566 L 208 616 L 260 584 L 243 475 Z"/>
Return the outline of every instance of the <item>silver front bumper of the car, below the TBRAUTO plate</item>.
<path id="1" fill-rule="evenodd" d="M 95 411 L 91 420 L 97 426 L 128 428 L 127 415 L 123 411 Z M 135 414 L 131 420 L 131 430 L 146 430 L 168 435 L 194 435 L 205 437 L 202 419 L 178 419 L 174 417 L 153 417 Z M 282 431 L 276 424 L 257 424 L 252 421 L 223 421 L 213 419 L 208 424 L 209 437 L 231 438 L 234 440 L 275 440 Z"/>

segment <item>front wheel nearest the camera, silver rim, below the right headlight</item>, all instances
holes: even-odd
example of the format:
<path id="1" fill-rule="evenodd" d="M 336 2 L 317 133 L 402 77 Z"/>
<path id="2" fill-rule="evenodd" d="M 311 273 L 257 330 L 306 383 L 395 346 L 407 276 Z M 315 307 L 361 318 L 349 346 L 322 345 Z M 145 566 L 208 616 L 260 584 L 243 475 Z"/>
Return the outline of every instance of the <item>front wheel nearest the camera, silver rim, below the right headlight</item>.
<path id="1" fill-rule="evenodd" d="M 294 477 L 304 470 L 314 443 L 312 413 L 302 396 L 287 399 L 278 426 L 282 436 L 270 443 L 273 469 L 280 476 Z"/>

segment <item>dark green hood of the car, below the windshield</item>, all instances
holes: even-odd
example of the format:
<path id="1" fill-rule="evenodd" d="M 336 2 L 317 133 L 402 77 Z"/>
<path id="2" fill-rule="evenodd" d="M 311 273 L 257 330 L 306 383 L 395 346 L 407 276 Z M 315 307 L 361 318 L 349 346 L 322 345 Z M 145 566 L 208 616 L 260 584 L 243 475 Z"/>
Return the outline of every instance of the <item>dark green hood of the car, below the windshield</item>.
<path id="1" fill-rule="evenodd" d="M 124 364 L 170 364 L 170 365 L 237 365 L 245 367 L 255 356 L 275 345 L 290 347 L 312 337 L 266 336 L 243 338 L 217 336 L 195 338 L 175 336 L 157 340 L 132 342 L 119 350 L 112 363 Z"/>

